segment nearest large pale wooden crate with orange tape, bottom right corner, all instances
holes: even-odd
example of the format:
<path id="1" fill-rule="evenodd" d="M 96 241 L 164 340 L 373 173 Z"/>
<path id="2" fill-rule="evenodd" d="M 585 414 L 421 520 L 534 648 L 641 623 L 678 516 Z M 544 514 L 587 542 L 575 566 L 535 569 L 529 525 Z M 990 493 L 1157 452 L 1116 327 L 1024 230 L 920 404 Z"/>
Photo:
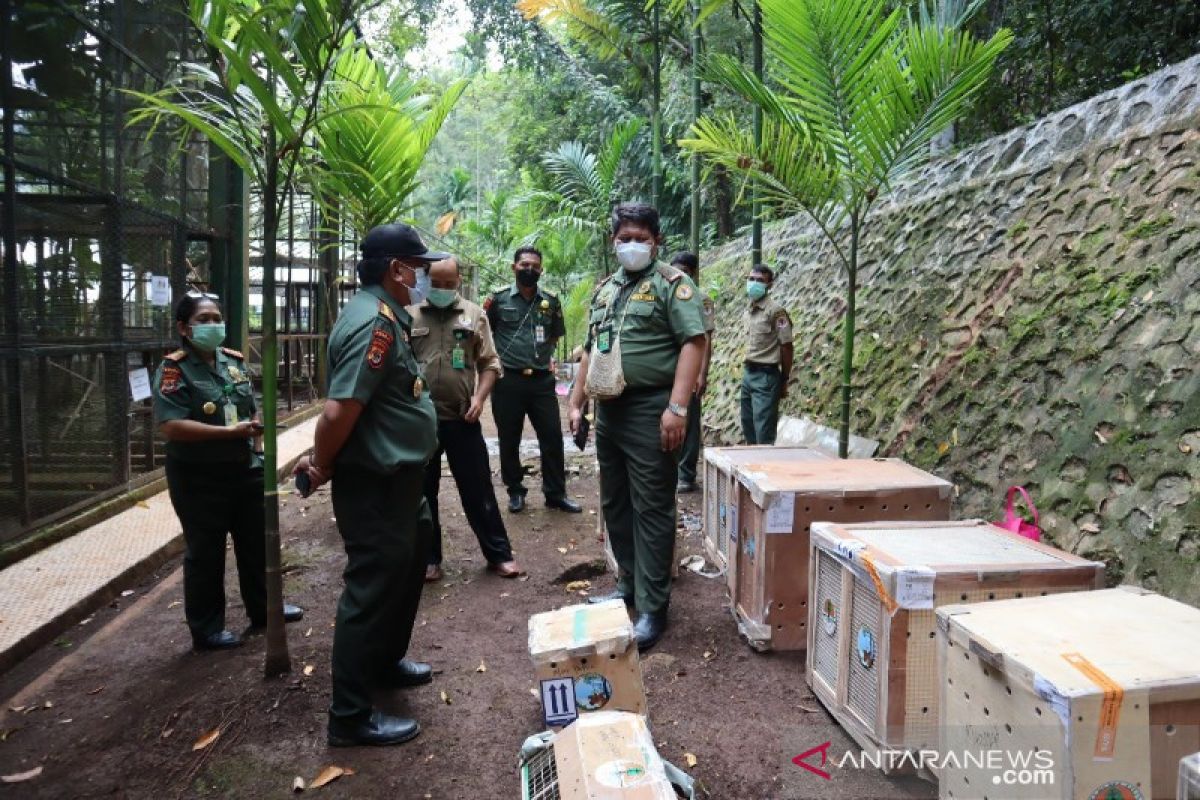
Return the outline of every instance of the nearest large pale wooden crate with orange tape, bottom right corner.
<path id="1" fill-rule="evenodd" d="M 1050 762 L 994 786 L 944 764 L 940 796 L 1170 800 L 1200 750 L 1200 610 L 1135 587 L 937 609 L 941 752 Z"/>

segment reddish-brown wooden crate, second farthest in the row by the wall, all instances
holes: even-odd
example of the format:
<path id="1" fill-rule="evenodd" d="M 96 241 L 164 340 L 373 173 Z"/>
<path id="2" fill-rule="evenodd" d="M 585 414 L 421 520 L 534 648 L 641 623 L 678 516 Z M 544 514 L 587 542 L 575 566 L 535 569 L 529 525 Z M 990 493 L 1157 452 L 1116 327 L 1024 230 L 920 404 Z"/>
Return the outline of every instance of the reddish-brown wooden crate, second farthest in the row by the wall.
<path id="1" fill-rule="evenodd" d="M 733 614 L 758 650 L 808 646 L 814 522 L 949 519 L 952 486 L 894 458 L 796 459 L 737 470 Z"/>

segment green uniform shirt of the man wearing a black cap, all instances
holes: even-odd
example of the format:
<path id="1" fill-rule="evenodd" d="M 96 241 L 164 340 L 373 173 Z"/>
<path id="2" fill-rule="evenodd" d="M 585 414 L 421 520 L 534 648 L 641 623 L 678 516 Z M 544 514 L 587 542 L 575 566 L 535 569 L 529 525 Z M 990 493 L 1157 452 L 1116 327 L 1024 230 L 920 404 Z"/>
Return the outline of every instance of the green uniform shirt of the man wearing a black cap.
<path id="1" fill-rule="evenodd" d="M 408 343 L 412 318 L 379 285 L 350 299 L 329 333 L 329 397 L 362 403 L 335 464 L 394 473 L 437 447 L 437 415 Z"/>

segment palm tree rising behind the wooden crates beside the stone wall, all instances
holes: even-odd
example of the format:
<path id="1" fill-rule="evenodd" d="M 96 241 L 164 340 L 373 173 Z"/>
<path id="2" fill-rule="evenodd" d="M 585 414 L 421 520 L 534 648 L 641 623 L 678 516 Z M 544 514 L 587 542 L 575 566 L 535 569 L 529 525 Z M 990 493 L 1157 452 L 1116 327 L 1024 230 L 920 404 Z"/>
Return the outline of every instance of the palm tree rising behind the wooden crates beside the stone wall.
<path id="1" fill-rule="evenodd" d="M 706 116 L 679 144 L 745 173 L 762 200 L 808 215 L 846 272 L 839 455 L 850 444 L 858 246 L 881 192 L 929 158 L 1012 41 L 979 41 L 966 22 L 983 0 L 761 0 L 773 85 L 727 56 L 707 74 L 763 113 L 756 144 L 733 115 Z"/>

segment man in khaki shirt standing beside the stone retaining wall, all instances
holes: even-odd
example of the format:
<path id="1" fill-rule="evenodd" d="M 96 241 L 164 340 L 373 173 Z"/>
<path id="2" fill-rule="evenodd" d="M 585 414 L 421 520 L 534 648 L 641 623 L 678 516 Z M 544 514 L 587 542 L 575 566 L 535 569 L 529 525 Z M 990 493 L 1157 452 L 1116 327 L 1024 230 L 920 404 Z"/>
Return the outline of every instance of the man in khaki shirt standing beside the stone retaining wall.
<path id="1" fill-rule="evenodd" d="M 779 401 L 792 375 L 792 318 L 770 296 L 775 273 L 756 264 L 746 279 L 746 355 L 742 372 L 742 435 L 748 445 L 775 444 Z"/>

